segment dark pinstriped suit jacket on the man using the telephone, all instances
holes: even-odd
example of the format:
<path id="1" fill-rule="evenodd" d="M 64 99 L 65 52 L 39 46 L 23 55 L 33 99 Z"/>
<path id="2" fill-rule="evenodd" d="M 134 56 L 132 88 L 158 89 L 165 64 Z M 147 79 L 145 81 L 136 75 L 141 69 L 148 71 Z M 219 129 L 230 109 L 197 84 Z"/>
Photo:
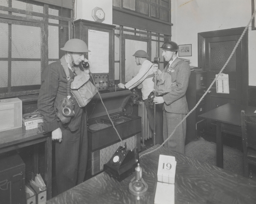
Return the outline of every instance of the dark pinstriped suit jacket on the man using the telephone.
<path id="1" fill-rule="evenodd" d="M 74 79 L 73 72 L 70 71 L 70 78 Z M 67 97 L 67 76 L 61 61 L 49 64 L 42 74 L 41 89 L 38 97 L 38 111 L 43 115 L 46 131 L 53 131 L 60 127 L 62 130 L 69 129 L 75 131 L 81 124 L 81 116 L 83 108 L 80 108 L 75 101 L 73 116 L 69 123 L 63 125 L 61 121 L 57 121 L 56 107 L 61 99 Z"/>

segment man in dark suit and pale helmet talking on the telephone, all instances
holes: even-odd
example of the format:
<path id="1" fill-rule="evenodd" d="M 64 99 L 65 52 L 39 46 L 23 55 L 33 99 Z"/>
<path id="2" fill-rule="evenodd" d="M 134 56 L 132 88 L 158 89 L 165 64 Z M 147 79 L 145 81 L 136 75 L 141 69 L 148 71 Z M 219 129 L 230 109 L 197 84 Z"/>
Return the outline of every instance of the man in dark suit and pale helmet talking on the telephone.
<path id="1" fill-rule="evenodd" d="M 75 99 L 73 100 L 75 116 L 70 122 L 64 124 L 57 117 L 56 108 L 60 101 L 67 97 L 68 80 L 61 62 L 67 62 L 70 78 L 74 79 L 74 66 L 82 61 L 88 61 L 84 58 L 84 54 L 90 52 L 86 43 L 79 39 L 68 40 L 61 50 L 66 51 L 65 55 L 44 69 L 38 97 L 38 110 L 43 115 L 45 130 L 52 132 L 52 140 L 56 140 L 55 167 L 58 194 L 84 181 L 88 146 L 86 114 Z"/>

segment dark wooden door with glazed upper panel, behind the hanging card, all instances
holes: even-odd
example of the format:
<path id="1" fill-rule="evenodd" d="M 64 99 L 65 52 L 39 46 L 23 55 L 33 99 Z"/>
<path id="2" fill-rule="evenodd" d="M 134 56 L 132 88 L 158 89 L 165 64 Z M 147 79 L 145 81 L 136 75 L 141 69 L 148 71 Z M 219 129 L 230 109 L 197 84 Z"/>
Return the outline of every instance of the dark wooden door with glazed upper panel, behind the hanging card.
<path id="1" fill-rule="evenodd" d="M 223 37 L 209 37 L 205 43 L 205 56 L 207 71 L 207 87 L 215 79 L 215 75 L 221 70 L 240 35 L 229 35 Z M 241 104 L 241 44 L 236 48 L 236 52 L 225 67 L 224 74 L 229 76 L 229 94 L 217 94 L 216 83 L 211 88 L 211 93 L 207 94 L 207 111 L 210 111 L 218 106 L 228 102 Z"/>

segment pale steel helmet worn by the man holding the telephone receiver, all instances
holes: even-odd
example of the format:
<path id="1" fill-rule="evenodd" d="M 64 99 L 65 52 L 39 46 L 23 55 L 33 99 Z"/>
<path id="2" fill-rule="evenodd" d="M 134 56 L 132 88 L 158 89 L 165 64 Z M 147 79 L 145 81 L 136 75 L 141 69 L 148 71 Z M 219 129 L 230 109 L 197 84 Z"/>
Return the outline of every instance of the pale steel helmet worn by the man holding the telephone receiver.
<path id="1" fill-rule="evenodd" d="M 86 45 L 86 43 L 83 40 L 80 39 L 70 39 L 68 40 L 64 47 L 61 48 L 61 50 L 67 51 L 67 52 L 80 52 L 80 53 L 84 53 L 84 52 L 90 52 L 90 50 L 88 50 L 88 46 Z"/>

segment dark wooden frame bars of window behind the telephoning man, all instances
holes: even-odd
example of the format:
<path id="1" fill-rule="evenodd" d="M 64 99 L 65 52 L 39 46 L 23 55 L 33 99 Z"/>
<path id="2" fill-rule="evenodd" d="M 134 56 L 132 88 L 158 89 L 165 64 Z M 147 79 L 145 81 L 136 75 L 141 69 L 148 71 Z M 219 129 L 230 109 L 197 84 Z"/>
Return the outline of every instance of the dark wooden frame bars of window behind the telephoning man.
<path id="1" fill-rule="evenodd" d="M 41 61 L 41 74 L 44 68 L 49 65 L 49 62 L 53 62 L 58 60 L 64 53 L 63 51 L 59 51 L 59 58 L 58 59 L 49 59 L 48 58 L 48 37 L 49 37 L 49 26 L 58 26 L 59 28 L 59 36 L 58 36 L 58 44 L 62 45 L 64 42 L 61 42 L 63 39 L 61 37 L 60 30 L 61 29 L 68 29 L 66 30 L 66 33 L 63 33 L 64 35 L 66 34 L 66 37 L 69 40 L 73 36 L 73 28 L 72 28 L 72 22 L 73 22 L 73 10 L 68 9 L 68 8 L 61 8 L 58 6 L 53 6 L 49 4 L 44 4 L 44 3 L 38 3 L 36 1 L 32 0 L 20 0 L 23 3 L 29 3 L 32 5 L 37 5 L 37 6 L 43 6 L 43 12 L 44 13 L 39 13 L 35 11 L 28 11 L 28 10 L 23 10 L 23 9 L 18 9 L 18 8 L 12 8 L 12 0 L 8 1 L 8 7 L 7 6 L 0 6 L 0 23 L 8 23 L 8 56 L 7 58 L 0 58 L 1 61 L 8 61 L 8 82 L 7 82 L 7 87 L 0 88 L 0 99 L 1 98 L 8 98 L 8 97 L 17 97 L 17 96 L 26 96 L 26 95 L 31 95 L 31 94 L 38 94 L 41 88 L 40 85 L 26 85 L 26 86 L 18 86 L 16 87 L 15 91 L 12 91 L 14 88 L 11 84 L 11 70 L 12 70 L 12 61 L 17 61 L 19 59 L 12 58 L 11 53 L 11 45 L 12 45 L 12 40 L 11 36 L 12 33 L 11 31 L 11 26 L 12 24 L 17 24 L 17 25 L 24 25 L 24 26 L 35 26 L 35 27 L 40 27 L 41 28 L 41 59 L 40 60 L 35 60 L 35 59 L 29 59 L 26 58 L 26 60 L 29 61 Z M 49 14 L 49 8 L 56 9 L 58 10 L 58 16 L 51 15 Z M 8 14 L 4 14 L 1 11 L 7 11 Z M 23 16 L 18 16 L 18 15 L 13 15 L 12 12 L 18 13 L 18 14 L 24 14 L 27 17 Z M 41 17 L 42 20 L 35 20 L 33 17 Z M 69 16 L 69 17 L 65 17 Z M 49 19 L 53 20 L 58 20 L 58 23 L 49 23 Z M 63 22 L 67 22 L 64 23 Z M 68 32 L 68 34 L 67 34 Z M 6 60 L 7 59 L 7 60 Z M 24 61 L 26 61 L 24 59 Z M 42 77 L 42 76 L 41 76 Z M 34 86 L 34 88 L 31 90 L 29 86 Z M 25 88 L 26 87 L 26 88 Z"/>

